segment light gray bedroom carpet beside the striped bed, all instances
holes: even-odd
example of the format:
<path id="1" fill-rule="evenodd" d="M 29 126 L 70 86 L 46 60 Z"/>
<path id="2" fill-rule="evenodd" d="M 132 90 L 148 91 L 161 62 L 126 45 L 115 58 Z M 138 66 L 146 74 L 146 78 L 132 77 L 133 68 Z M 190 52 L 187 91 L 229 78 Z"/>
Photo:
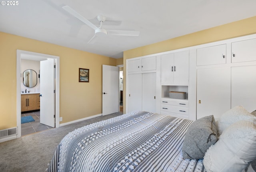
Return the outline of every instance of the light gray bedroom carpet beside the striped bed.
<path id="1" fill-rule="evenodd" d="M 44 172 L 55 149 L 69 132 L 122 113 L 100 116 L 0 143 L 0 172 Z"/>

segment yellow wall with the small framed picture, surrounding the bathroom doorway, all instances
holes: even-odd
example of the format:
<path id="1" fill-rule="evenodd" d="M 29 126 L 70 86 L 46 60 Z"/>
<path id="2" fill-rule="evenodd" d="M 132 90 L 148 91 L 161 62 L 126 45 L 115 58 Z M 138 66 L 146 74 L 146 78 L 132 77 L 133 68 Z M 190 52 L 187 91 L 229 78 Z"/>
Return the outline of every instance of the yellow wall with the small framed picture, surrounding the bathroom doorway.
<path id="1" fill-rule="evenodd" d="M 60 116 L 63 121 L 102 113 L 102 64 L 116 59 L 0 32 L 0 130 L 16 127 L 16 50 L 60 56 Z M 78 68 L 90 69 L 89 83 Z"/>

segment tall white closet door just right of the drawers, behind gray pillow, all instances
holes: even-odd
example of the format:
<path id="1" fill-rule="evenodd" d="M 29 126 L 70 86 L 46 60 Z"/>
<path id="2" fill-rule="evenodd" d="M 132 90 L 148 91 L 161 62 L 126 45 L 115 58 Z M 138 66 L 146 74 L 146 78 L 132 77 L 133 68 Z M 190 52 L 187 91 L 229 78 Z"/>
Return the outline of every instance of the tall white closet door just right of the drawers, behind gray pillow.
<path id="1" fill-rule="evenodd" d="M 230 109 L 230 68 L 197 70 L 196 119 L 220 116 Z"/>

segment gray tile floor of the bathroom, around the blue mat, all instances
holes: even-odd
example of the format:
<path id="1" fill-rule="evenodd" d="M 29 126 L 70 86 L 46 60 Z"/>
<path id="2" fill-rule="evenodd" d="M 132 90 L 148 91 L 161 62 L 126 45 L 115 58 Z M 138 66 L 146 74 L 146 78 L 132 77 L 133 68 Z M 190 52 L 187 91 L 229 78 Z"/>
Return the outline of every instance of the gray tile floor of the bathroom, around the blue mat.
<path id="1" fill-rule="evenodd" d="M 40 123 L 40 111 L 21 112 L 21 116 L 29 116 L 29 115 L 31 115 L 35 121 L 21 124 L 21 136 L 25 136 L 27 134 L 33 134 L 36 132 L 41 132 L 44 130 L 49 130 L 52 128 L 50 126 Z"/>

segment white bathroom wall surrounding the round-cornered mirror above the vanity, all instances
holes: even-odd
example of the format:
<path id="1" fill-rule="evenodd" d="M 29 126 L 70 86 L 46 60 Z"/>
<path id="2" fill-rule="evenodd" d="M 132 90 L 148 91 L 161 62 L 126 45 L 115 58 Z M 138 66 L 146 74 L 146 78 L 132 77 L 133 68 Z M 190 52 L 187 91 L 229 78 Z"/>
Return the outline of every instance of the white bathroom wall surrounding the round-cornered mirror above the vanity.
<path id="1" fill-rule="evenodd" d="M 36 86 L 34 86 L 32 88 L 28 88 L 28 87 L 24 86 L 24 84 L 23 84 L 23 72 L 27 69 L 32 69 L 32 70 L 36 71 L 37 84 L 36 84 Z M 39 61 L 21 59 L 21 62 L 20 62 L 20 74 L 21 74 L 20 91 L 25 92 L 25 90 L 27 90 L 27 92 L 28 91 L 40 92 L 40 81 L 38 78 L 39 70 L 40 70 L 40 62 Z"/>

